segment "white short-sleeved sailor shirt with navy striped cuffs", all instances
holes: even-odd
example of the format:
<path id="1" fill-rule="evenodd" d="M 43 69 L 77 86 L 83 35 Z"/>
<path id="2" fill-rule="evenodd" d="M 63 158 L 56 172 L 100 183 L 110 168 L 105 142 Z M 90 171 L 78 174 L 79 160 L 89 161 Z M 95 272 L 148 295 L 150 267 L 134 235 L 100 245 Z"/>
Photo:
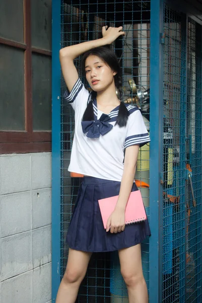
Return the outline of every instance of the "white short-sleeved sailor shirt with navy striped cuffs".
<path id="1" fill-rule="evenodd" d="M 95 98 L 93 100 L 94 121 L 88 122 L 88 124 L 95 122 L 93 127 L 102 128 L 100 120 L 109 116 L 107 123 L 111 125 L 111 129 L 104 135 L 89 137 L 88 132 L 84 133 L 82 128 L 82 118 L 89 103 L 89 94 L 90 92 L 80 79 L 76 81 L 70 93 L 66 90 L 64 94 L 64 98 L 75 111 L 75 131 L 68 171 L 106 180 L 121 181 L 125 148 L 135 144 L 139 144 L 141 147 L 150 141 L 141 112 L 137 107 L 125 104 L 129 112 L 127 125 L 119 127 L 119 125 L 115 125 L 119 106 L 106 115 L 97 109 Z"/>

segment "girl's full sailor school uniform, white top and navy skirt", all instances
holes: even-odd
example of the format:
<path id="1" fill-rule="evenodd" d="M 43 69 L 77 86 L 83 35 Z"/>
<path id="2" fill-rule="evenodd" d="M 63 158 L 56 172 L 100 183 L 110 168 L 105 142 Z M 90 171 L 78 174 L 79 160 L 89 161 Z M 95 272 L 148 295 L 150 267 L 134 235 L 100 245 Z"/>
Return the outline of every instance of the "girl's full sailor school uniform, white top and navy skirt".
<path id="1" fill-rule="evenodd" d="M 140 147 L 150 141 L 140 110 L 126 105 L 129 112 L 127 125 L 115 125 L 119 106 L 108 115 L 97 109 L 93 100 L 94 121 L 82 121 L 90 102 L 90 92 L 80 79 L 71 93 L 64 98 L 75 111 L 75 132 L 68 171 L 87 175 L 78 196 L 68 228 L 69 247 L 82 251 L 113 251 L 141 243 L 150 235 L 148 221 L 126 225 L 118 233 L 106 232 L 100 214 L 98 199 L 119 194 L 124 169 L 124 150 Z M 131 191 L 138 190 L 135 182 Z"/>

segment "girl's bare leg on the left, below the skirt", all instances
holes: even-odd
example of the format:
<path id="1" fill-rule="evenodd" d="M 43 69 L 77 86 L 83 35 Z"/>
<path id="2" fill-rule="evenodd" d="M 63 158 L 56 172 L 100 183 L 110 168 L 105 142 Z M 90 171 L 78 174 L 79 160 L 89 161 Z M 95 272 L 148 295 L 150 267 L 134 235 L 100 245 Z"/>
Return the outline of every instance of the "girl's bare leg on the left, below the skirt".
<path id="1" fill-rule="evenodd" d="M 69 249 L 67 268 L 61 281 L 56 303 L 74 303 L 79 286 L 85 277 L 91 252 Z"/>

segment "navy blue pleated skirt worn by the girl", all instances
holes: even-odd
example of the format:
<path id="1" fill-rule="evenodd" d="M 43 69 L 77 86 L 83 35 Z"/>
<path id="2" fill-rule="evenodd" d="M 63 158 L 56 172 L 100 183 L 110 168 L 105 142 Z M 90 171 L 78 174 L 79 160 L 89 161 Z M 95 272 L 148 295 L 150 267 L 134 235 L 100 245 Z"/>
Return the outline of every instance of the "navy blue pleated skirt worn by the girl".
<path id="1" fill-rule="evenodd" d="M 120 185 L 118 181 L 83 177 L 66 238 L 70 248 L 91 252 L 113 251 L 141 243 L 150 235 L 147 220 L 126 225 L 122 232 L 106 232 L 98 199 L 118 195 Z M 135 190 L 138 188 L 134 183 L 132 191 Z"/>

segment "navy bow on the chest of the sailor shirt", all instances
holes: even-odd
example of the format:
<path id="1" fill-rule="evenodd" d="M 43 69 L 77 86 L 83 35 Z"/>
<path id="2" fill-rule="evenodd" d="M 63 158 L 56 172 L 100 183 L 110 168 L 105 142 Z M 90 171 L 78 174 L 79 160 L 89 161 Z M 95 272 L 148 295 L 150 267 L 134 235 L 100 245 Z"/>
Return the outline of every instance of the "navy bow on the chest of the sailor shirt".
<path id="1" fill-rule="evenodd" d="M 113 128 L 113 125 L 107 122 L 110 119 L 110 116 L 102 114 L 99 120 L 82 121 L 83 133 L 87 132 L 86 137 L 88 138 L 98 138 L 100 134 L 105 135 Z"/>

